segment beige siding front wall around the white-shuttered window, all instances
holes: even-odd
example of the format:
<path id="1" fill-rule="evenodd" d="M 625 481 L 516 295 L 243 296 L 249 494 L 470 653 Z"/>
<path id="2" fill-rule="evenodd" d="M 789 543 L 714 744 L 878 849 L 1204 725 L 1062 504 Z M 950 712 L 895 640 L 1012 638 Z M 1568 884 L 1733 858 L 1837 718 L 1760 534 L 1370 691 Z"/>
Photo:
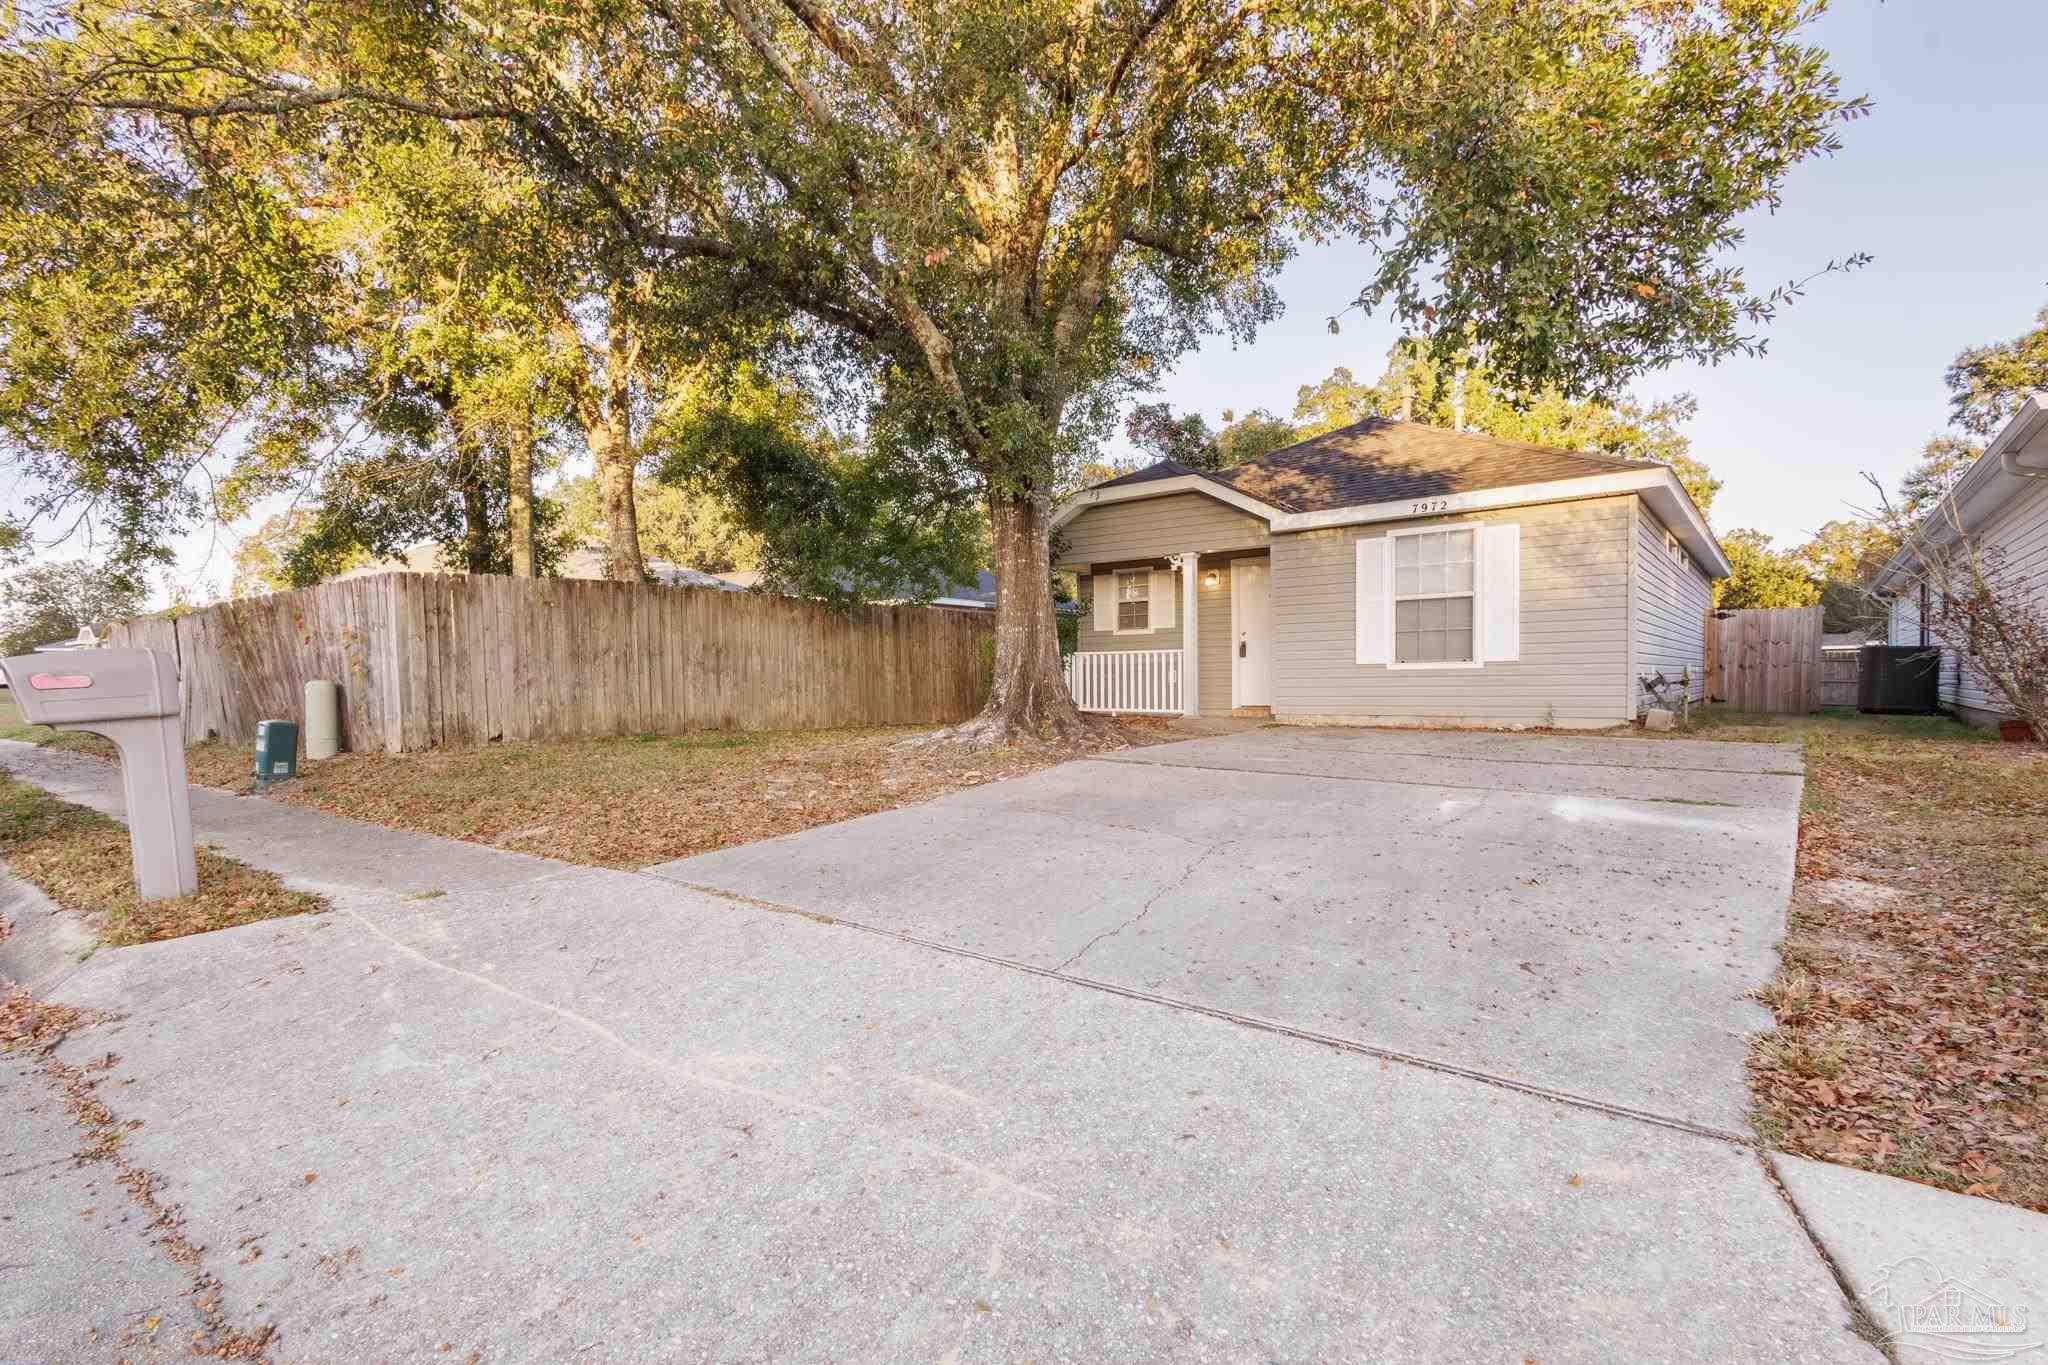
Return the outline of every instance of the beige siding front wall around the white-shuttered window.
<path id="1" fill-rule="evenodd" d="M 1634 495 L 1274 536 L 1274 714 L 1391 724 L 1626 720 Z M 1522 526 L 1522 657 L 1462 669 L 1360 665 L 1356 542 L 1413 526 Z"/>

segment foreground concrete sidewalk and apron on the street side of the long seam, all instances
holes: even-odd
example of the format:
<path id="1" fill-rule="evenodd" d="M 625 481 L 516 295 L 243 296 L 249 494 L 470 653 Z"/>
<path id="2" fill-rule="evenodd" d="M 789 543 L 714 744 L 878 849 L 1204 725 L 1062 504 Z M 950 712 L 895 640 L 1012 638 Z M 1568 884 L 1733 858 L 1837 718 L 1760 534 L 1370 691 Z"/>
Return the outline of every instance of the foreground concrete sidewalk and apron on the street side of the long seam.
<path id="1" fill-rule="evenodd" d="M 1878 1359 L 1731 1142 L 651 876 L 195 827 L 336 913 L 94 954 L 55 995 L 123 1017 L 63 1056 L 119 1056 L 276 1359 Z M 72 1273 L 16 1273 L 0 1357 L 49 1355 L 14 1304 Z"/>

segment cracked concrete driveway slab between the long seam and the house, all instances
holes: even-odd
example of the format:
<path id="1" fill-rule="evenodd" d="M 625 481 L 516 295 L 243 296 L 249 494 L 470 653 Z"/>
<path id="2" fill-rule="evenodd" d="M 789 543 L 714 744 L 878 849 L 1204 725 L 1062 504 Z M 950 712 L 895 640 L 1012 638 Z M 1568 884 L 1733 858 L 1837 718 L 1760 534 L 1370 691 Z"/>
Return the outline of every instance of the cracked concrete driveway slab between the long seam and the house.
<path id="1" fill-rule="evenodd" d="M 1788 745 L 1262 729 L 653 868 L 1745 1134 Z"/>

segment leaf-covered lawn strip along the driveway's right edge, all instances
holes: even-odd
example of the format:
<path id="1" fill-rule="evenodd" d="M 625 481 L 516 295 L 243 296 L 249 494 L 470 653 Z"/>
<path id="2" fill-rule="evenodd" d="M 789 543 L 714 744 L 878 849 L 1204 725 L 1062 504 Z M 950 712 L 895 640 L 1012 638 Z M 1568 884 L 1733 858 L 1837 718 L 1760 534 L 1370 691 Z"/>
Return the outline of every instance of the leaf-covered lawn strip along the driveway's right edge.
<path id="1" fill-rule="evenodd" d="M 2048 1212 L 2048 751 L 1939 716 L 1708 710 L 1696 733 L 1806 751 L 1757 1134 Z"/>

